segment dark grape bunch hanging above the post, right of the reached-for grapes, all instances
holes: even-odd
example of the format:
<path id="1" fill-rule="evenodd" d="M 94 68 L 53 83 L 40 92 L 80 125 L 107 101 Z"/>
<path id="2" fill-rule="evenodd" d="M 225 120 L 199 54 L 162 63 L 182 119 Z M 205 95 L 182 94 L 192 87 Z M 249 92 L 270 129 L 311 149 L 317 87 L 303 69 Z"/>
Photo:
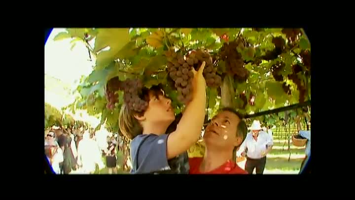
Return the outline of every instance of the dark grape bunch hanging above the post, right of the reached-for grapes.
<path id="1" fill-rule="evenodd" d="M 237 51 L 237 47 L 244 47 L 241 39 L 229 43 L 223 43 L 219 55 L 225 61 L 227 73 L 234 75 L 234 79 L 240 83 L 247 81 L 249 70 L 244 67 L 242 54 Z"/>

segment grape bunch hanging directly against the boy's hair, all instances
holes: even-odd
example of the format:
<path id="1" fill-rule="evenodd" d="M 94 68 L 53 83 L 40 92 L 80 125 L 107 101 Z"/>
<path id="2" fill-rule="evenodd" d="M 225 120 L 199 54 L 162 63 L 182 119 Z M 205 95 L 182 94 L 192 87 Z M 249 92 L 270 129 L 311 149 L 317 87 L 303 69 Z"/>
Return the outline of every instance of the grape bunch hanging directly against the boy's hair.
<path id="1" fill-rule="evenodd" d="M 148 102 L 140 98 L 143 83 L 141 79 L 127 79 L 122 83 L 123 99 L 130 110 L 142 112 L 148 107 Z"/>

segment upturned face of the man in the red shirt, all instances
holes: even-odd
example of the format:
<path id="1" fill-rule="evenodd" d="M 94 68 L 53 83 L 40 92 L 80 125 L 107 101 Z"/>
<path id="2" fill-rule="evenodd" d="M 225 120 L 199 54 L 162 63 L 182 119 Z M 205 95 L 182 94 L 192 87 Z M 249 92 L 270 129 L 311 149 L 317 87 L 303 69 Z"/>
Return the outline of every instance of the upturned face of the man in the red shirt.
<path id="1" fill-rule="evenodd" d="M 242 138 L 237 136 L 239 122 L 239 117 L 230 111 L 215 115 L 203 136 L 206 145 L 220 148 L 239 146 L 242 142 Z"/>

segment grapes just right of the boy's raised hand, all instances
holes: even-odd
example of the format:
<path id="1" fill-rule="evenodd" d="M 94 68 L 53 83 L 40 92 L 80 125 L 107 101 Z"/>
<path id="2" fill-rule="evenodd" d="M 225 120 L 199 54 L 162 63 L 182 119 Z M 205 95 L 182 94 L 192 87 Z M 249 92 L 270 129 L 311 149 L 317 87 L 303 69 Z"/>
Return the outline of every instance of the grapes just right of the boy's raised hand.
<path id="1" fill-rule="evenodd" d="M 191 67 L 194 67 L 196 71 L 199 70 L 202 65 L 202 62 L 206 62 L 206 66 L 203 71 L 203 76 L 206 79 L 206 85 L 208 87 L 215 88 L 221 85 L 222 79 L 219 75 L 216 74 L 217 69 L 213 67 L 213 58 L 208 52 L 204 52 L 201 50 L 192 51 L 186 57 L 187 64 Z"/>

